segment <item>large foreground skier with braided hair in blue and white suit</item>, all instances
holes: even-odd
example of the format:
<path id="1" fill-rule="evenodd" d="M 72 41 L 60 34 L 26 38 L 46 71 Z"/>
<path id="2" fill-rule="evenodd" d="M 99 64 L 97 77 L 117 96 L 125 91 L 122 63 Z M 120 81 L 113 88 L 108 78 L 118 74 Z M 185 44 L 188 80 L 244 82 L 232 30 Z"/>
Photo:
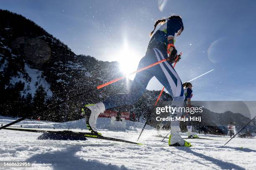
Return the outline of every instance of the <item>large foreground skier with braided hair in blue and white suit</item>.
<path id="1" fill-rule="evenodd" d="M 161 27 L 153 35 L 159 23 Z M 184 30 L 182 18 L 180 16 L 171 16 L 163 20 L 157 20 L 154 25 L 154 30 L 150 33 L 151 40 L 149 41 L 146 55 L 139 62 L 138 69 L 165 58 L 169 60 L 148 68 L 147 70 L 143 70 L 142 72 L 138 72 L 131 84 L 128 94 L 111 95 L 102 102 L 85 105 L 82 112 L 86 115 L 87 128 L 92 133 L 97 133 L 96 121 L 101 112 L 104 112 L 105 109 L 121 105 L 131 105 L 136 102 L 146 91 L 149 80 L 154 76 L 164 85 L 169 94 L 172 95 L 172 105 L 183 106 L 185 97 L 182 81 L 172 66 L 172 63 L 177 57 L 180 57 L 177 55 L 174 43 L 176 37 Z M 181 116 L 181 114 L 177 113 L 177 117 L 178 116 Z M 171 123 L 169 145 L 190 146 L 190 143 L 184 141 L 179 135 L 179 121 L 172 121 Z"/>

